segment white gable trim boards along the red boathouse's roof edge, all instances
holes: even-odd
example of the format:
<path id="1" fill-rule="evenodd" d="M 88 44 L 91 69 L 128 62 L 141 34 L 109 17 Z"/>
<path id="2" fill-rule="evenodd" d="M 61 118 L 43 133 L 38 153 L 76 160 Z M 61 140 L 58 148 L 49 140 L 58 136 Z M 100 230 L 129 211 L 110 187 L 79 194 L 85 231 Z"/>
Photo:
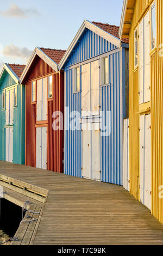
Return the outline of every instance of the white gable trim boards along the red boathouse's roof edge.
<path id="1" fill-rule="evenodd" d="M 33 51 L 32 56 L 30 57 L 27 65 L 26 65 L 26 68 L 22 72 L 22 75 L 20 77 L 20 83 L 23 83 L 23 80 L 26 77 L 27 72 L 28 72 L 30 66 L 32 65 L 33 60 L 34 60 L 36 55 L 39 56 L 49 66 L 51 66 L 51 68 L 54 69 L 55 72 L 58 72 L 57 63 L 54 62 L 54 60 L 52 60 L 50 57 L 48 57 L 47 54 L 45 52 L 43 52 L 39 47 L 35 47 L 35 50 Z"/>

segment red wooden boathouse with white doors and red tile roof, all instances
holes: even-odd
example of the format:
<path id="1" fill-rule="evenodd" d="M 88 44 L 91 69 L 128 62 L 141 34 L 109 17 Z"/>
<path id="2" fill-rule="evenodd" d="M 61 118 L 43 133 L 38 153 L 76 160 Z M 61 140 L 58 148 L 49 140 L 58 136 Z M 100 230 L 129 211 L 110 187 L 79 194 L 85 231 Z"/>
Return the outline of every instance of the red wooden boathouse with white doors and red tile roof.
<path id="1" fill-rule="evenodd" d="M 64 171 L 64 131 L 52 124 L 55 111 L 64 114 L 64 72 L 58 71 L 64 53 L 36 47 L 20 78 L 26 84 L 25 164 L 59 173 Z"/>

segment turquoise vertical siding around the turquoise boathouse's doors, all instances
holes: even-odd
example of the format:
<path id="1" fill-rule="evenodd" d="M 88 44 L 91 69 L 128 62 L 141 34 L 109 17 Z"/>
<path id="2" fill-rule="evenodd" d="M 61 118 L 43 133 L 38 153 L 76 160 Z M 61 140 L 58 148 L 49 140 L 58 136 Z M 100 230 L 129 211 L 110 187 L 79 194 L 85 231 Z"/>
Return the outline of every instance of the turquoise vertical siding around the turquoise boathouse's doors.
<path id="1" fill-rule="evenodd" d="M 25 149 L 25 138 L 24 138 L 24 122 L 25 122 L 25 92 L 24 86 L 16 84 L 14 79 L 5 72 L 5 77 L 0 83 L 0 160 L 6 161 L 6 132 L 5 132 L 5 110 L 2 110 L 2 92 L 5 88 L 10 86 L 17 86 L 17 106 L 12 109 L 14 119 L 13 129 L 13 162 L 18 164 L 24 164 L 24 149 Z M 7 102 L 5 102 L 6 104 Z M 7 107 L 7 106 L 6 106 Z M 23 113 L 22 113 L 23 112 Z"/>

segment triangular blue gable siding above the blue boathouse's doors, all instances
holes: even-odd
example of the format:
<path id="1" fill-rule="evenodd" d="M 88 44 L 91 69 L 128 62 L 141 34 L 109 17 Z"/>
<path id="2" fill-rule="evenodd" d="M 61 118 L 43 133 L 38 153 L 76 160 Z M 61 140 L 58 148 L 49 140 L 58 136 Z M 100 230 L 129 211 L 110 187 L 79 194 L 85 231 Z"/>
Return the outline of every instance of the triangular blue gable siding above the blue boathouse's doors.
<path id="1" fill-rule="evenodd" d="M 89 29 L 85 29 L 78 44 L 73 49 L 71 56 L 68 58 L 66 66 L 83 62 L 86 59 L 98 56 L 115 48 L 116 46 L 111 44 L 111 42 L 103 39 Z"/>

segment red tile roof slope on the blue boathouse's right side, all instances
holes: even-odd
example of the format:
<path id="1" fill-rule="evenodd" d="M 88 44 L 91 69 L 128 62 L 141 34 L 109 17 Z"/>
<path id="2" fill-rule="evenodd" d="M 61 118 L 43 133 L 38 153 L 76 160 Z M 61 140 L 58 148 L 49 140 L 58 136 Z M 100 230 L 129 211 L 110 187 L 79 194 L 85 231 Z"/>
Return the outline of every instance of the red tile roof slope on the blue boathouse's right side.
<path id="1" fill-rule="evenodd" d="M 109 25 L 108 23 L 101 23 L 101 22 L 95 22 L 92 21 L 93 24 L 95 24 L 97 27 L 103 29 L 104 31 L 108 32 L 109 34 L 112 34 L 116 36 L 116 38 L 120 39 L 118 36 L 119 27 L 115 25 Z M 128 38 L 122 38 L 122 42 L 129 42 Z"/>

